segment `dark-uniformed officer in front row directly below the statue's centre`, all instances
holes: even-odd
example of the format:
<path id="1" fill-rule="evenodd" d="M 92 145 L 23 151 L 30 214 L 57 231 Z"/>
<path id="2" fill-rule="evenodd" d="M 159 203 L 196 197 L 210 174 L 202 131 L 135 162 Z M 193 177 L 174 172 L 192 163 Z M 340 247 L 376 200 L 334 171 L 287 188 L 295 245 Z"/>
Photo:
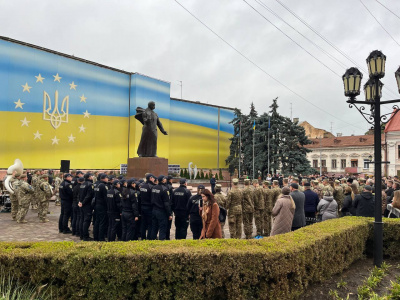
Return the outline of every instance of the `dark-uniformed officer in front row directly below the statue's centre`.
<path id="1" fill-rule="evenodd" d="M 151 190 L 154 186 L 154 179 L 156 177 L 153 174 L 146 175 L 146 182 L 140 185 L 140 208 L 141 208 L 141 236 L 142 240 L 150 239 L 151 226 L 152 226 L 152 210 L 151 204 Z"/>

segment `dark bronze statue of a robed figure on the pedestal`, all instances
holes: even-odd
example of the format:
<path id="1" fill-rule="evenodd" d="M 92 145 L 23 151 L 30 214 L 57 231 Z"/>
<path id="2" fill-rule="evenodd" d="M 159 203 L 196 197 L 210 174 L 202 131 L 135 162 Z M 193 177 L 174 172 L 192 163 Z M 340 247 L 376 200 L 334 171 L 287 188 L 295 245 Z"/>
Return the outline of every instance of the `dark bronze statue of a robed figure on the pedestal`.
<path id="1" fill-rule="evenodd" d="M 140 157 L 157 157 L 157 127 L 163 134 L 168 134 L 158 115 L 154 112 L 155 108 L 156 104 L 153 101 L 148 103 L 146 109 L 136 108 L 135 118 L 143 124 L 142 137 L 137 151 Z"/>

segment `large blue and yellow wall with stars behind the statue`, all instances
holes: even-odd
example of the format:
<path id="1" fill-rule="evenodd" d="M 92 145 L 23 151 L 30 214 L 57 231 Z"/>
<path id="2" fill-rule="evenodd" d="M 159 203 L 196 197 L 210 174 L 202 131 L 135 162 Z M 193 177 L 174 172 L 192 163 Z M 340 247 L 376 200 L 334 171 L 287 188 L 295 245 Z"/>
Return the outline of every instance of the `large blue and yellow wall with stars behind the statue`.
<path id="1" fill-rule="evenodd" d="M 158 156 L 224 168 L 233 110 L 170 98 L 170 84 L 0 37 L 0 168 L 119 168 L 137 156 L 136 107 L 156 103 Z"/>

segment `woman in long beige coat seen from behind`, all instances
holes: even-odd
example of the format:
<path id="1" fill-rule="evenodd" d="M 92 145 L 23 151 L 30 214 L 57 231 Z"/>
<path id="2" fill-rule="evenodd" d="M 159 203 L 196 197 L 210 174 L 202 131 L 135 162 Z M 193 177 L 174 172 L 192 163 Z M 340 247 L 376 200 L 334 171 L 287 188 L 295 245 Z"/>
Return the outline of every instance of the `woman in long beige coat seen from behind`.
<path id="1" fill-rule="evenodd" d="M 282 194 L 279 196 L 272 209 L 273 224 L 271 236 L 291 231 L 296 205 L 289 194 L 290 189 L 284 187 L 282 189 Z"/>

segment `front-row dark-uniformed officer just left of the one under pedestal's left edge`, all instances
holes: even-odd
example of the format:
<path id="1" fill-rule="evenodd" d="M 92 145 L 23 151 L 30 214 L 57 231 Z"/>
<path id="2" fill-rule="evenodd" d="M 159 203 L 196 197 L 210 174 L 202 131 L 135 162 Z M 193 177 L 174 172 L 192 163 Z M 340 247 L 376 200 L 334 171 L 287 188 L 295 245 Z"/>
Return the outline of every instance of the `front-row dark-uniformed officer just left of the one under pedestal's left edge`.
<path id="1" fill-rule="evenodd" d="M 114 242 L 121 229 L 121 184 L 114 180 L 107 192 L 108 241 Z"/>

